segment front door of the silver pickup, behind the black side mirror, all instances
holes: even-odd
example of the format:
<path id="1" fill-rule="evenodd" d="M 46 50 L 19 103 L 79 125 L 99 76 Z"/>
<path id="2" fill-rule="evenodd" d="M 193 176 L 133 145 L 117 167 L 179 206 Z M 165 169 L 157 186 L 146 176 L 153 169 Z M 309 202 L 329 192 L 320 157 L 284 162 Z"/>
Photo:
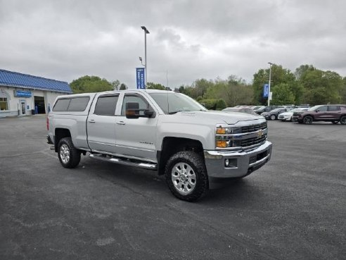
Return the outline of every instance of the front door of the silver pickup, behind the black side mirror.
<path id="1" fill-rule="evenodd" d="M 148 101 L 140 94 L 124 95 L 122 111 L 117 116 L 115 125 L 115 132 L 117 133 L 117 154 L 156 162 L 156 125 L 158 123 L 158 113 L 155 113 L 153 118 L 126 118 L 125 104 L 127 102 L 138 102 L 139 109 L 152 110 Z"/>

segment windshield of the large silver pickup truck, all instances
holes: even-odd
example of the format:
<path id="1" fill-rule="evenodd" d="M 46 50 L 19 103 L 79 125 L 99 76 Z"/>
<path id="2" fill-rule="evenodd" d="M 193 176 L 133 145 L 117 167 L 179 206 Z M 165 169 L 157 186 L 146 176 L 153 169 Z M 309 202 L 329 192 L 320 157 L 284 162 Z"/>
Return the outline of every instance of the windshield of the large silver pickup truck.
<path id="1" fill-rule="evenodd" d="M 158 103 L 163 112 L 177 113 L 180 111 L 207 111 L 204 106 L 181 93 L 176 92 L 153 92 L 148 93 Z"/>

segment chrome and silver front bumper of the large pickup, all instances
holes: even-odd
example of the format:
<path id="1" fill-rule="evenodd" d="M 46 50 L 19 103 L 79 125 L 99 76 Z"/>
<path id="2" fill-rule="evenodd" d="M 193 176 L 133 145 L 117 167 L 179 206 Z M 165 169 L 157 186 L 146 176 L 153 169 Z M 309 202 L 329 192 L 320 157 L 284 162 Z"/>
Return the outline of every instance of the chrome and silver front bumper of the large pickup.
<path id="1" fill-rule="evenodd" d="M 205 166 L 209 183 L 229 178 L 243 177 L 264 166 L 271 158 L 272 144 L 266 141 L 255 149 L 248 151 L 204 151 Z M 225 160 L 229 159 L 229 166 Z"/>

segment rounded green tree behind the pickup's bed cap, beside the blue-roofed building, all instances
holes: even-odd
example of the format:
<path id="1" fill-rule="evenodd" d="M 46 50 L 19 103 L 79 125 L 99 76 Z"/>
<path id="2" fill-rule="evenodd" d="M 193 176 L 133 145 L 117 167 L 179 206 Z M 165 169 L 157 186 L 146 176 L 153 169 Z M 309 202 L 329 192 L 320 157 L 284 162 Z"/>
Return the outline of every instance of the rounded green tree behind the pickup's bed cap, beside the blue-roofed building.
<path id="1" fill-rule="evenodd" d="M 113 90 L 112 84 L 105 79 L 101 79 L 97 76 L 84 76 L 73 80 L 70 83 L 70 87 L 74 94 L 78 93 L 90 93 L 90 92 L 103 92 Z"/>

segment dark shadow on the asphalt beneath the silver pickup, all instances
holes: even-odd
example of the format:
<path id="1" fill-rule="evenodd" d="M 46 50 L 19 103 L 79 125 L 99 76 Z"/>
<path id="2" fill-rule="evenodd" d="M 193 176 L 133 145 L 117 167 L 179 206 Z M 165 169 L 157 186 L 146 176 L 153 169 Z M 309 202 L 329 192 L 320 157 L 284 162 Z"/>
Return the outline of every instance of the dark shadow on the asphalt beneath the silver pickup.
<path id="1" fill-rule="evenodd" d="M 155 202 L 159 201 L 162 204 L 191 204 L 175 198 L 167 187 L 165 176 L 158 175 L 156 171 L 95 161 L 87 157 L 82 159 L 78 168 L 86 174 L 95 175 L 114 185 L 131 190 L 135 194 L 142 194 L 150 197 L 150 199 L 155 199 Z M 232 204 L 233 206 L 249 204 L 250 206 L 262 197 L 262 192 L 256 186 L 256 182 L 250 180 L 250 178 L 248 176 L 245 179 L 229 181 L 224 187 L 210 190 L 203 199 L 195 203 L 200 205 L 212 204 L 213 207 L 225 204 L 228 206 L 232 206 Z"/>

